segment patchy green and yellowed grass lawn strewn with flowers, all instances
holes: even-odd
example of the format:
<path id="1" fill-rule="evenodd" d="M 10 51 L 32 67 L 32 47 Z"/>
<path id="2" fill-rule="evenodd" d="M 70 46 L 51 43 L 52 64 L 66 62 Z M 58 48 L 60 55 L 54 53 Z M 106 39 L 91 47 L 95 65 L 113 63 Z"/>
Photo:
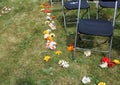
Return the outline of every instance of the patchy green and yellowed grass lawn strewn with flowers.
<path id="1" fill-rule="evenodd" d="M 57 48 L 53 51 L 45 47 L 43 31 L 49 27 L 44 23 L 46 14 L 40 12 L 40 4 L 45 3 L 47 0 L 0 0 L 0 85 L 83 85 L 83 76 L 91 78 L 87 85 L 97 85 L 101 81 L 106 85 L 120 85 L 120 65 L 105 69 L 99 67 L 105 54 L 92 53 L 85 57 L 81 51 L 76 53 L 75 61 L 71 59 L 72 54 L 67 47 L 74 43 L 75 26 L 69 26 L 67 30 L 72 35 L 66 35 L 60 3 L 50 8 L 52 15 L 56 16 L 57 29 L 52 32 L 56 35 Z M 5 6 L 11 11 L 2 13 Z M 115 26 L 112 49 L 112 59 L 118 60 L 119 34 L 120 22 Z M 57 50 L 62 54 L 56 55 Z M 47 55 L 51 59 L 45 62 L 43 59 Z M 70 66 L 60 67 L 59 60 L 69 62 Z"/>

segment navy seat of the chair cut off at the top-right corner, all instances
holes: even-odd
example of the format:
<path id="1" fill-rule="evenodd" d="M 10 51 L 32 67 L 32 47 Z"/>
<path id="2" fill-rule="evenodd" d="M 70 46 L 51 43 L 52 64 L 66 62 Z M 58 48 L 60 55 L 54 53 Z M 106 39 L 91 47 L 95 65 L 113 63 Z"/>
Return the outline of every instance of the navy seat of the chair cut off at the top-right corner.
<path id="1" fill-rule="evenodd" d="M 103 8 L 114 8 L 115 7 L 115 2 L 106 2 L 106 1 L 102 1 L 102 0 L 99 0 L 99 4 L 101 7 Z M 120 1 L 118 1 L 118 8 L 120 8 Z"/>

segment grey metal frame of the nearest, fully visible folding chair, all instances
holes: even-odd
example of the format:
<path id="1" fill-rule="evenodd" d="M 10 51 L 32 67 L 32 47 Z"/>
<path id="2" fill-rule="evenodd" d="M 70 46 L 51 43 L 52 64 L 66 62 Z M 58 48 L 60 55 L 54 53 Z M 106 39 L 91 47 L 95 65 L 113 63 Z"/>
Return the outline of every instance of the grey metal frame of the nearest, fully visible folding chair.
<path id="1" fill-rule="evenodd" d="M 113 17 L 113 22 L 112 22 L 112 26 L 115 26 L 115 20 L 116 20 L 116 11 L 117 11 L 117 3 L 118 1 L 116 1 L 115 3 L 115 8 L 114 8 L 114 17 Z M 111 52 L 112 52 L 112 41 L 113 41 L 113 34 L 112 36 L 109 37 L 110 39 L 110 45 L 109 45 L 109 50 L 105 51 L 105 50 L 93 50 L 93 49 L 88 49 L 88 48 L 80 48 L 77 47 L 77 39 L 78 39 L 78 26 L 79 26 L 79 20 L 80 20 L 80 5 L 81 5 L 81 0 L 79 1 L 79 9 L 78 9 L 78 18 L 77 18 L 77 25 L 76 25 L 76 35 L 75 35 L 75 43 L 74 43 L 74 51 L 73 51 L 73 55 L 72 55 L 72 59 L 75 59 L 75 54 L 77 50 L 91 50 L 92 52 L 103 52 L 103 53 L 108 53 L 109 58 L 111 57 Z M 96 19 L 97 20 L 97 19 Z M 114 31 L 114 30 L 113 30 Z M 93 35 L 96 36 L 96 35 Z M 97 35 L 99 36 L 99 35 Z M 105 37 L 105 36 L 103 36 Z M 107 36 L 108 37 L 108 36 Z"/>

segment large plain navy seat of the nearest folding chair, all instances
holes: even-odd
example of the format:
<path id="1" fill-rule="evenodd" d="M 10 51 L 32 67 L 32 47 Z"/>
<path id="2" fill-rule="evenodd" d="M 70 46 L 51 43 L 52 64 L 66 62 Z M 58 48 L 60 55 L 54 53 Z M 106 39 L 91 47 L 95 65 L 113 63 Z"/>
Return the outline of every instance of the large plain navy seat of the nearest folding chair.
<path id="1" fill-rule="evenodd" d="M 113 25 L 110 21 L 80 19 L 78 24 L 78 32 L 87 35 L 96 36 L 112 36 Z"/>

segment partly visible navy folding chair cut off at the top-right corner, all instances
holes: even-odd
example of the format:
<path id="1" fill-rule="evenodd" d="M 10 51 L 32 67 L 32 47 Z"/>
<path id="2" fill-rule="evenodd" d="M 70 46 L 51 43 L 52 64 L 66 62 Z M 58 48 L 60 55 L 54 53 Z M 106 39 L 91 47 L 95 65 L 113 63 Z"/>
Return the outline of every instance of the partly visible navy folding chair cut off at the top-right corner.
<path id="1" fill-rule="evenodd" d="M 106 0 L 106 1 L 98 0 L 99 6 L 97 6 L 97 16 L 96 16 L 97 19 L 99 18 L 99 12 L 102 11 L 103 8 L 114 8 L 115 7 L 115 2 L 111 2 L 110 0 Z M 120 0 L 118 0 L 117 8 L 120 8 Z M 118 15 L 116 16 L 116 19 L 118 18 L 119 15 L 120 13 L 118 13 Z"/>

